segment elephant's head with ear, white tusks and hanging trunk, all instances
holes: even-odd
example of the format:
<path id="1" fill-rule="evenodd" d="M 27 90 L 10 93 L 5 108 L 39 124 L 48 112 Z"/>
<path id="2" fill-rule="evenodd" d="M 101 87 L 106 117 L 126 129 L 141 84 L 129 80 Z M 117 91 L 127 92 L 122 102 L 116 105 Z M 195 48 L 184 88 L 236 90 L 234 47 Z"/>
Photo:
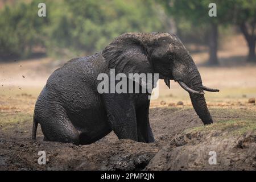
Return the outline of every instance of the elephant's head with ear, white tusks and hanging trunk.
<path id="1" fill-rule="evenodd" d="M 130 72 L 159 73 L 170 88 L 170 80 L 177 81 L 189 92 L 192 105 L 204 124 L 213 122 L 204 98 L 204 91 L 218 92 L 203 86 L 197 67 L 174 34 L 127 33 L 119 36 L 103 51 L 109 67 L 121 67 Z M 134 61 L 133 56 L 139 57 Z M 126 61 L 124 61 L 126 60 Z M 147 61 L 144 61 L 147 60 Z M 120 68 L 119 68 L 120 69 Z"/>

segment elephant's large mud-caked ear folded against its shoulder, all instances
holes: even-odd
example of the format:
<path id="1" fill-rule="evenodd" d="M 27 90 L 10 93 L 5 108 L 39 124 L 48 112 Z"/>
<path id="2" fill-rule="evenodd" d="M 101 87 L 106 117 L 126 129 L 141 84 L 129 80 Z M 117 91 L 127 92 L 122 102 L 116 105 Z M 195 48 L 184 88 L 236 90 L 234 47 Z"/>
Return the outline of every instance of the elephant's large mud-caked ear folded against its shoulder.
<path id="1" fill-rule="evenodd" d="M 102 51 L 102 55 L 108 62 L 108 68 L 115 69 L 115 73 L 152 71 L 146 47 L 139 39 L 129 34 L 116 38 Z"/>

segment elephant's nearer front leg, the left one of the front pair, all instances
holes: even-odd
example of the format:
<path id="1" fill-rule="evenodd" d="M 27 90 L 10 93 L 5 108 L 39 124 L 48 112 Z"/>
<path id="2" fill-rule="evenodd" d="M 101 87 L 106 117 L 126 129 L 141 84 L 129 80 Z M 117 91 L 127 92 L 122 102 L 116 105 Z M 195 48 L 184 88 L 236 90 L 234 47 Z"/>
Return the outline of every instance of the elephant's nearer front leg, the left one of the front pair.
<path id="1" fill-rule="evenodd" d="M 129 94 L 102 95 L 108 122 L 119 139 L 138 141 L 135 106 Z"/>

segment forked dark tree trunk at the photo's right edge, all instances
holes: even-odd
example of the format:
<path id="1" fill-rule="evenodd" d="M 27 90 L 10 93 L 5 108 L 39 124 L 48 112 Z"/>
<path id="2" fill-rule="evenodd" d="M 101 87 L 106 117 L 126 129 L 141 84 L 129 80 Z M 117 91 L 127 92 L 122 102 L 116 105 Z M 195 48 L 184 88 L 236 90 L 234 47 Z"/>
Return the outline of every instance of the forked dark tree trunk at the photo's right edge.
<path id="1" fill-rule="evenodd" d="M 252 34 L 250 35 L 249 31 L 247 30 L 246 24 L 244 22 L 240 24 L 240 29 L 242 31 L 243 36 L 245 36 L 245 40 L 249 47 L 249 55 L 247 56 L 247 61 L 256 62 L 256 56 L 255 56 L 256 38 L 254 35 L 255 24 L 253 24 L 251 27 L 253 27 L 253 30 L 251 31 Z"/>

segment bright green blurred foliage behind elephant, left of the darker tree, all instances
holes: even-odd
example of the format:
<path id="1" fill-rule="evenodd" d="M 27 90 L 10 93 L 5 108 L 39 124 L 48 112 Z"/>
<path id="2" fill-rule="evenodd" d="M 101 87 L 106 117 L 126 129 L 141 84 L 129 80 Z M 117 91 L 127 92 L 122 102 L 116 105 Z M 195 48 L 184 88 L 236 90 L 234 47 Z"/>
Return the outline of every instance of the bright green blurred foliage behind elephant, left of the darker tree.
<path id="1" fill-rule="evenodd" d="M 165 31 L 154 1 L 64 0 L 18 2 L 0 11 L 0 56 L 27 57 L 36 47 L 48 54 L 100 51 L 124 32 Z"/>

